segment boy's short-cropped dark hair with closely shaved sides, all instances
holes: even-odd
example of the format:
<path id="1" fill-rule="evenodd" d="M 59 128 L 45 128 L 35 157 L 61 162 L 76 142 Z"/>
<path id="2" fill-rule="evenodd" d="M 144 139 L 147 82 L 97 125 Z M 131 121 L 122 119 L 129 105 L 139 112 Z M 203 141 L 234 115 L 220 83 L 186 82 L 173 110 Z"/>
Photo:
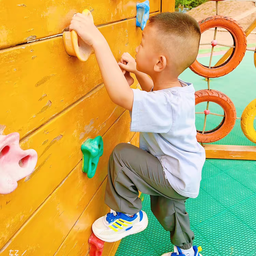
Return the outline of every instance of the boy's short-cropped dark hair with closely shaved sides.
<path id="1" fill-rule="evenodd" d="M 200 26 L 194 18 L 185 13 L 164 12 L 151 17 L 148 26 L 156 28 L 159 42 L 169 53 L 177 73 L 193 64 L 201 38 Z"/>

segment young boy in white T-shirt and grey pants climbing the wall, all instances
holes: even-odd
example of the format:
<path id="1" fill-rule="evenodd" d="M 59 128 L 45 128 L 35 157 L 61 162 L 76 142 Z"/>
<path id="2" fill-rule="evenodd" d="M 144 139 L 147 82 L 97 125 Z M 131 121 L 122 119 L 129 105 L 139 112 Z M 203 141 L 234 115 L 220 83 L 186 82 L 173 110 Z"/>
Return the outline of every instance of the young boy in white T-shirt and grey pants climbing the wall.
<path id="1" fill-rule="evenodd" d="M 125 53 L 119 63 L 90 13 L 77 13 L 70 29 L 93 47 L 110 99 L 131 111 L 131 131 L 140 132 L 140 148 L 122 143 L 110 156 L 105 202 L 111 212 L 93 223 L 93 233 L 115 242 L 144 230 L 141 191 L 170 231 L 174 252 L 164 255 L 199 256 L 185 202 L 199 193 L 205 151 L 196 140 L 194 87 L 178 79 L 197 57 L 198 23 L 182 13 L 151 17 L 136 61 Z M 120 67 L 137 76 L 142 91 L 130 88 Z"/>

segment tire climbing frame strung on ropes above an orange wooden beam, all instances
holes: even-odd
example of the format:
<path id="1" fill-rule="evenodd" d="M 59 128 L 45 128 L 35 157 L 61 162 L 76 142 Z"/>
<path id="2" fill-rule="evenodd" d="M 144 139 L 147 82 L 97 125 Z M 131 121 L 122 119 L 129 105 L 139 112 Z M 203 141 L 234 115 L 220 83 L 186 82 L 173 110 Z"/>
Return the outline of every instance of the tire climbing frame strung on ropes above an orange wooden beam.
<path id="1" fill-rule="evenodd" d="M 214 28 L 214 37 L 210 43 L 201 45 L 212 45 L 209 66 L 202 65 L 197 60 L 190 66 L 194 73 L 203 76 L 207 81 L 207 90 L 197 91 L 195 94 L 196 105 L 201 102 L 207 102 L 206 109 L 196 114 L 204 114 L 204 126 L 202 131 L 197 131 L 197 140 L 202 143 L 210 143 L 224 138 L 234 127 L 236 119 L 241 119 L 241 127 L 245 136 L 256 143 L 256 131 L 254 130 L 253 121 L 256 116 L 256 102 L 252 101 L 244 110 L 242 118 L 236 116 L 234 103 L 227 95 L 211 90 L 210 78 L 227 75 L 234 70 L 242 61 L 246 49 L 246 36 L 256 27 L 256 20 L 244 32 L 243 28 L 237 21 L 218 15 L 218 0 L 216 1 L 216 15 L 203 19 L 199 22 L 201 33 L 207 29 Z M 223 45 L 216 40 L 217 27 L 229 31 L 234 40 L 234 45 Z M 223 57 L 212 65 L 212 56 L 214 47 L 217 45 L 228 46 L 230 50 Z M 254 51 L 254 50 L 253 50 Z M 254 53 L 254 60 L 255 60 Z M 217 103 L 222 107 L 224 115 L 212 113 L 210 111 L 210 102 Z M 210 131 L 206 131 L 206 120 L 208 115 L 217 115 L 223 117 L 221 123 Z M 252 159 L 256 160 L 256 147 L 253 146 L 229 146 L 229 145 L 203 145 L 206 150 L 207 158 L 229 158 L 229 159 Z"/>

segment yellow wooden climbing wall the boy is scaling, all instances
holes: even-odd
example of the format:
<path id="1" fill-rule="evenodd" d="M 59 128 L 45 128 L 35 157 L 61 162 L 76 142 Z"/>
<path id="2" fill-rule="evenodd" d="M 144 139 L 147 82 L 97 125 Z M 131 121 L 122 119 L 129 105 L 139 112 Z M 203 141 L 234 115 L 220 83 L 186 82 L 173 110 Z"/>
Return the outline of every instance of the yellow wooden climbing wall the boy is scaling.
<path id="1" fill-rule="evenodd" d="M 38 154 L 35 171 L 13 193 L 0 195 L 0 255 L 89 253 L 91 225 L 109 210 L 109 155 L 121 142 L 138 146 L 139 134 L 130 132 L 129 113 L 110 101 L 95 56 L 87 62 L 70 57 L 61 33 L 74 13 L 89 9 L 116 60 L 123 52 L 135 55 L 141 40 L 136 2 L 0 2 L 0 134 L 19 132 L 21 147 Z M 151 15 L 161 11 L 161 0 L 149 2 Z M 89 180 L 80 147 L 97 135 L 104 154 Z M 103 256 L 117 247 L 106 243 Z"/>

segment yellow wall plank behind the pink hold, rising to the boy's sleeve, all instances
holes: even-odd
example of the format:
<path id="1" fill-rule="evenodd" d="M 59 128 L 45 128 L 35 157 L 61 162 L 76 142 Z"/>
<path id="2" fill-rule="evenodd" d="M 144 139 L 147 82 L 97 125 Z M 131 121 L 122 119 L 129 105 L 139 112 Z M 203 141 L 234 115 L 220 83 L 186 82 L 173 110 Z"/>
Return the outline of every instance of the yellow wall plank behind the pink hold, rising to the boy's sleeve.
<path id="1" fill-rule="evenodd" d="M 123 112 L 101 85 L 21 143 L 36 149 L 38 163 L 13 193 L 0 195 L 0 248 L 82 159 L 82 143 L 103 135 Z"/>

